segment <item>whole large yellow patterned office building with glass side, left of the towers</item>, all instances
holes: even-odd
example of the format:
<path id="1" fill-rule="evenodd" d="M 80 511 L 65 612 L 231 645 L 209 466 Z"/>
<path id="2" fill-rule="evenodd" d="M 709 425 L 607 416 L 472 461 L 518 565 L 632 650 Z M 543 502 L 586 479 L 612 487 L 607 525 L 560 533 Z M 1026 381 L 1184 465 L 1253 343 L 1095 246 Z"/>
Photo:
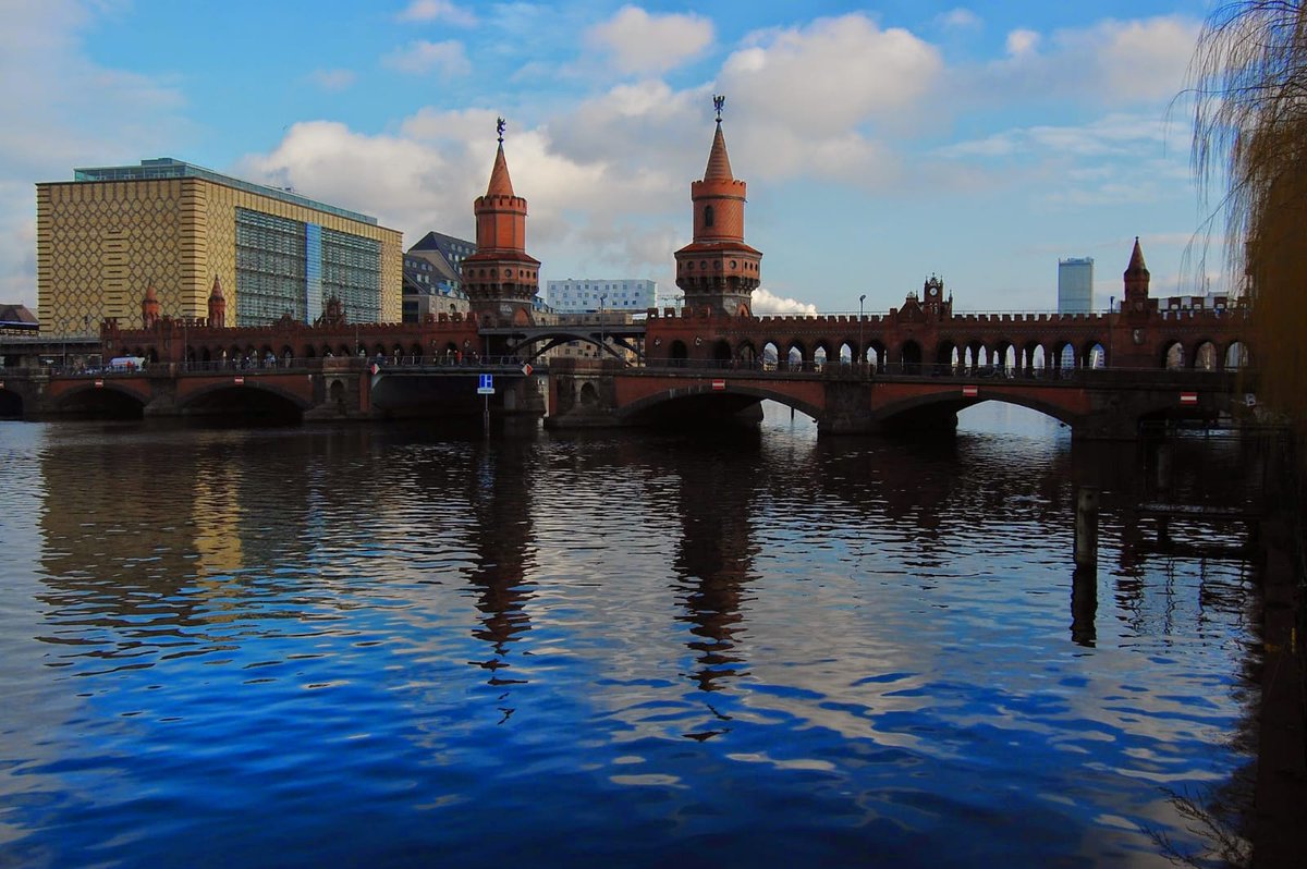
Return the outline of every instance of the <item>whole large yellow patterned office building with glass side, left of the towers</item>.
<path id="1" fill-rule="evenodd" d="M 203 318 L 214 277 L 227 325 L 312 323 L 332 297 L 350 321 L 400 321 L 401 237 L 375 217 L 171 158 L 73 175 L 37 184 L 43 333 L 133 325 L 150 284 L 162 315 Z"/>

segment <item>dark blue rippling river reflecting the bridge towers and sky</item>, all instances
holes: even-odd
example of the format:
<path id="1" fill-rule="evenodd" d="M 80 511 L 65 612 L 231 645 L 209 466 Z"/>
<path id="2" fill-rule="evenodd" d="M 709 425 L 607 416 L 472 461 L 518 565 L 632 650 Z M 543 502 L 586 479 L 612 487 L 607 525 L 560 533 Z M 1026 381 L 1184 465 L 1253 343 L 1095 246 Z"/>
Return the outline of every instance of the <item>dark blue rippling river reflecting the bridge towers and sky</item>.
<path id="1" fill-rule="evenodd" d="M 1149 473 L 995 405 L 919 440 L 0 422 L 0 866 L 1170 865 L 1176 796 L 1252 762 L 1260 602 L 1150 549 Z"/>

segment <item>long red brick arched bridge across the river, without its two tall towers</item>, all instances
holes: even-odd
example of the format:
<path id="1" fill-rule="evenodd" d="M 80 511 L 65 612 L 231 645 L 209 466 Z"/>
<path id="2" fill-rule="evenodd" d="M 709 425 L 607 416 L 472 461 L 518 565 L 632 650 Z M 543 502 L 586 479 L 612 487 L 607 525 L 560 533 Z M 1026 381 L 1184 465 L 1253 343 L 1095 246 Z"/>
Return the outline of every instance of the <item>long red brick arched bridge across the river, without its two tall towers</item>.
<path id="1" fill-rule="evenodd" d="M 37 365 L 0 369 L 0 416 L 318 421 L 489 409 L 566 429 L 712 425 L 755 417 L 771 400 L 831 435 L 950 429 L 959 410 L 1002 401 L 1087 439 L 1134 438 L 1157 421 L 1251 417 L 1248 310 L 1174 306 L 1132 293 L 1129 280 L 1127 272 L 1121 310 L 1094 314 L 955 314 L 931 278 L 901 307 L 859 316 L 701 307 L 550 321 L 472 312 L 350 324 L 339 311 L 315 324 L 286 318 L 237 328 L 158 318 L 127 329 L 108 320 L 97 352 L 71 365 L 55 363 L 44 346 Z M 603 358 L 550 358 L 565 342 L 588 344 Z M 103 361 L 115 357 L 144 366 L 106 371 Z M 497 375 L 491 397 L 478 397 L 480 374 Z"/>

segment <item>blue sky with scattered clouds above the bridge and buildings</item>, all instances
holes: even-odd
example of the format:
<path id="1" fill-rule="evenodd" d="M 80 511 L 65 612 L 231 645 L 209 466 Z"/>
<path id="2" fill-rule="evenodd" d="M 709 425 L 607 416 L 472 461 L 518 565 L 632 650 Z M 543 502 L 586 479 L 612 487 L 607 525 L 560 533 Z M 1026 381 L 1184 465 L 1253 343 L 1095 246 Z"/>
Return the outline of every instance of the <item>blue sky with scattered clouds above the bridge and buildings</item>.
<path id="1" fill-rule="evenodd" d="M 0 301 L 35 307 L 34 184 L 175 157 L 404 233 L 472 238 L 494 120 L 541 282 L 672 280 L 714 93 L 763 251 L 761 310 L 1050 310 L 1057 259 L 1120 295 L 1221 290 L 1172 99 L 1206 0 L 5 0 Z M 1219 247 L 1217 242 L 1216 247 Z"/>

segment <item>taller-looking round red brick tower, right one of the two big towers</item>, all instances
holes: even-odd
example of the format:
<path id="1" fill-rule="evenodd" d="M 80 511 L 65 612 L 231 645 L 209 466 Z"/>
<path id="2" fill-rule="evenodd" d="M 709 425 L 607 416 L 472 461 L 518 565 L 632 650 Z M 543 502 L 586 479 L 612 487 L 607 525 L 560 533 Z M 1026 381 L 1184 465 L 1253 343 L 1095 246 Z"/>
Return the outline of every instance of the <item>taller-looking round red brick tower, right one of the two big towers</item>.
<path id="1" fill-rule="evenodd" d="M 725 97 L 712 98 L 718 129 L 703 180 L 690 183 L 694 240 L 676 252 L 676 285 L 685 293 L 686 311 L 750 316 L 762 252 L 744 243 L 746 186 L 731 175 L 721 135 L 724 102 Z"/>

